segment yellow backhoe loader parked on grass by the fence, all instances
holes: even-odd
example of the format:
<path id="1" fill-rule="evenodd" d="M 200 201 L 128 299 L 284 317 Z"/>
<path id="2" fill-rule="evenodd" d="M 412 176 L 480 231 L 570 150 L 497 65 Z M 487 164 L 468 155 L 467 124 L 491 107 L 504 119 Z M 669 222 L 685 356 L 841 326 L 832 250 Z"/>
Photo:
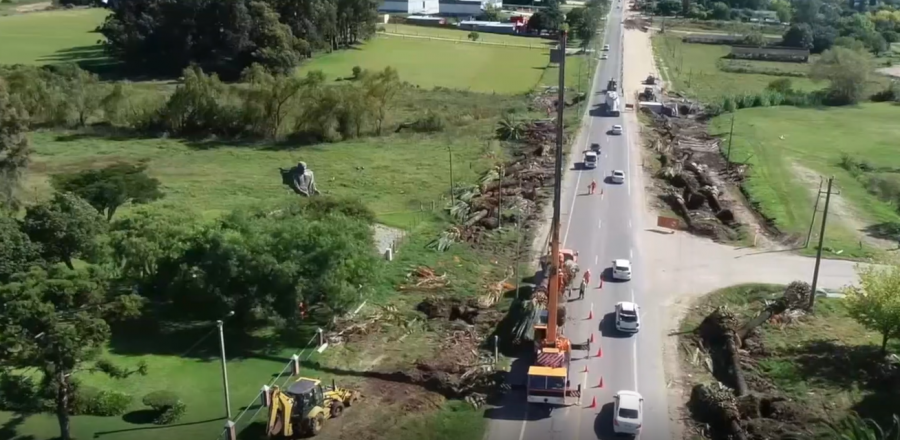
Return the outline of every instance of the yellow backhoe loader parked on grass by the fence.
<path id="1" fill-rule="evenodd" d="M 282 390 L 272 388 L 269 405 L 269 437 L 292 439 L 313 437 L 322 430 L 325 420 L 339 417 L 345 407 L 359 401 L 358 391 L 322 387 L 322 381 L 301 377 Z"/>

